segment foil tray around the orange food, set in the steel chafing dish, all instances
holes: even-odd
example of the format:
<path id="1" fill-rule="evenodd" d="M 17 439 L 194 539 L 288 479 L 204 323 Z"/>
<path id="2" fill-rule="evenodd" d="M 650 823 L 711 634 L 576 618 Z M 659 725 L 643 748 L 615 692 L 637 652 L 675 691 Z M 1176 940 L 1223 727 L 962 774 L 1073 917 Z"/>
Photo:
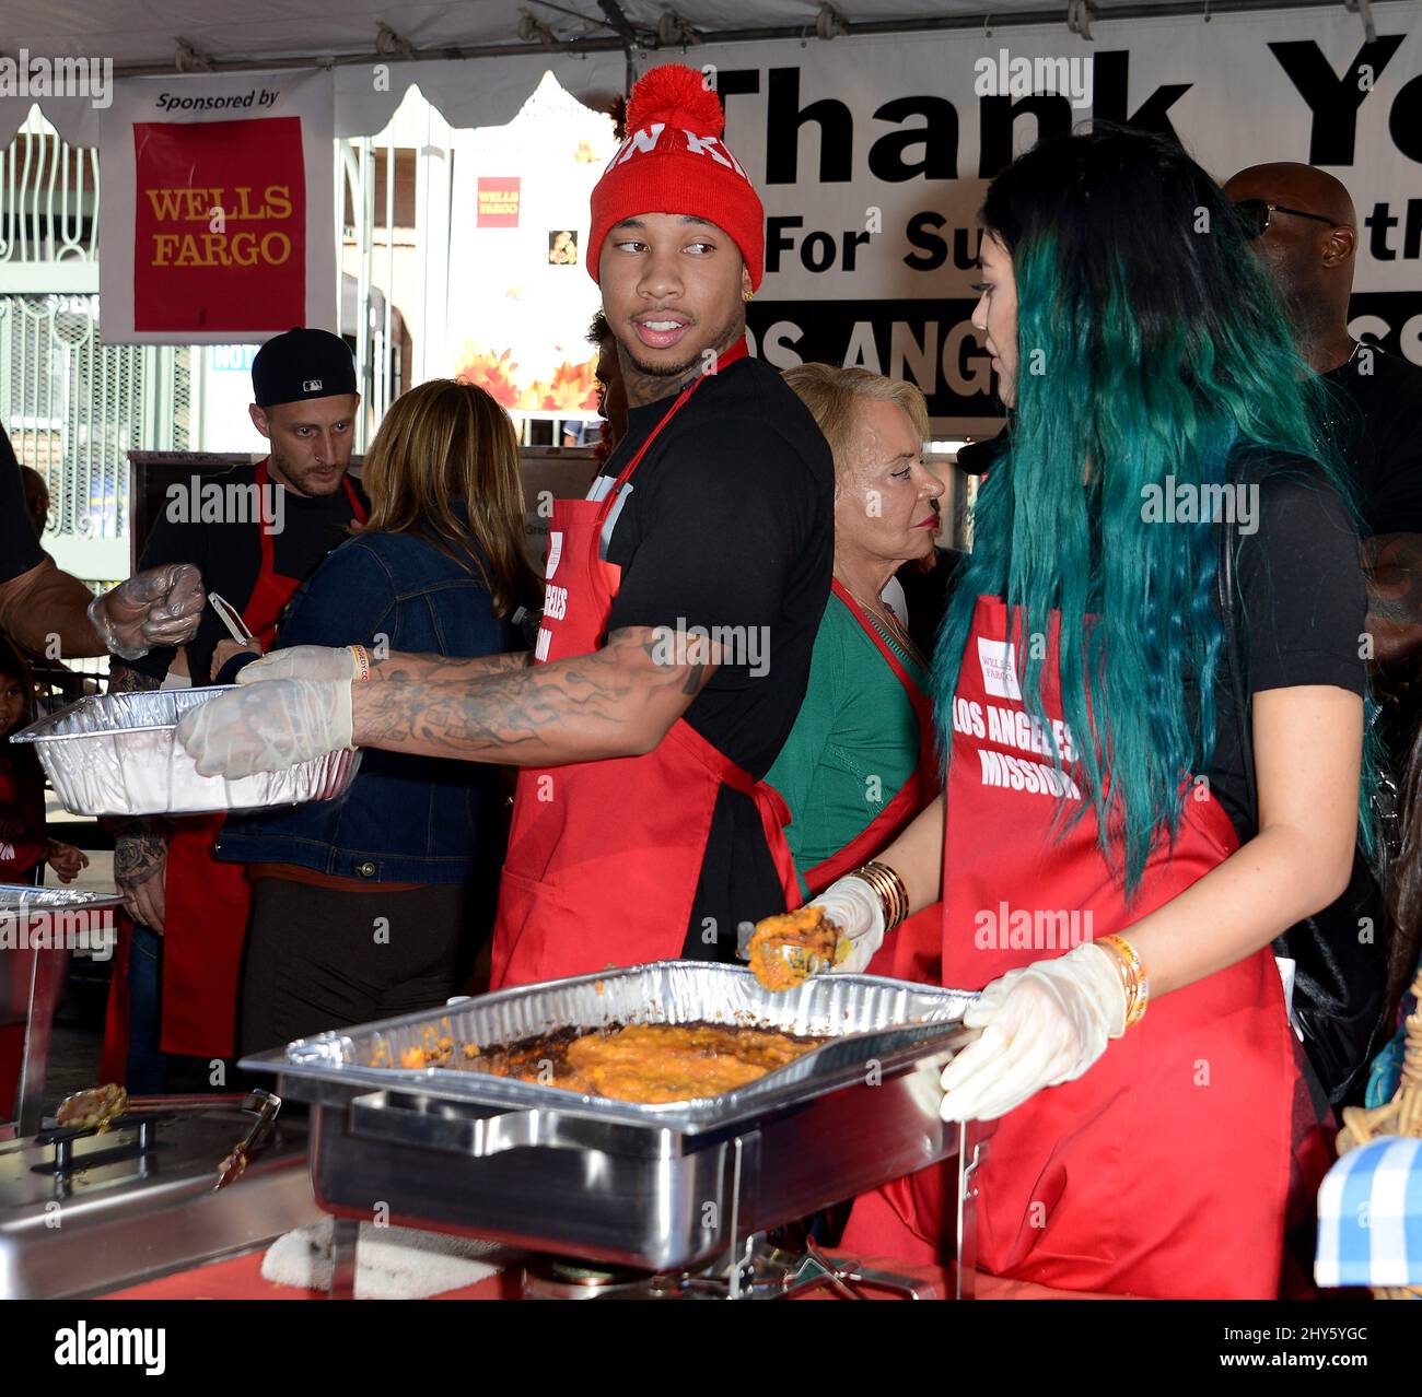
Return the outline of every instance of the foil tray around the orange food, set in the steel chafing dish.
<path id="1" fill-rule="evenodd" d="M 390 1090 L 419 1090 L 444 1100 L 543 1107 L 563 1117 L 674 1128 L 695 1134 L 769 1111 L 806 1096 L 862 1080 L 870 1059 L 919 1056 L 948 1037 L 961 1039 L 963 1012 L 977 996 L 875 975 L 820 975 L 791 991 L 765 989 L 744 966 L 658 961 L 481 995 L 243 1059 L 243 1067 L 283 1079 Z M 448 1037 L 455 1050 L 516 1043 L 555 1029 L 623 1023 L 728 1023 L 829 1036 L 795 1062 L 734 1091 L 694 1101 L 637 1104 L 583 1096 L 565 1087 L 495 1077 L 459 1067 L 401 1067 L 407 1049 L 428 1050 Z M 299 1082 L 287 1090 L 301 1094 Z"/>

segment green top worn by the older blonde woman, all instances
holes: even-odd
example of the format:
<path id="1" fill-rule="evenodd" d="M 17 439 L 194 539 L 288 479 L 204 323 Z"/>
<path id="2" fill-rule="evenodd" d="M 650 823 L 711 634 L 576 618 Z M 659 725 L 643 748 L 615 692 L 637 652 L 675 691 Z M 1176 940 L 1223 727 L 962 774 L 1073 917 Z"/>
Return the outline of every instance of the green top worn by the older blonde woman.
<path id="1" fill-rule="evenodd" d="M 921 667 L 870 620 L 926 688 Z M 791 809 L 785 837 L 802 895 L 809 895 L 805 871 L 856 838 L 917 765 L 919 719 L 909 695 L 849 607 L 830 594 L 815 635 L 805 702 L 765 776 Z"/>

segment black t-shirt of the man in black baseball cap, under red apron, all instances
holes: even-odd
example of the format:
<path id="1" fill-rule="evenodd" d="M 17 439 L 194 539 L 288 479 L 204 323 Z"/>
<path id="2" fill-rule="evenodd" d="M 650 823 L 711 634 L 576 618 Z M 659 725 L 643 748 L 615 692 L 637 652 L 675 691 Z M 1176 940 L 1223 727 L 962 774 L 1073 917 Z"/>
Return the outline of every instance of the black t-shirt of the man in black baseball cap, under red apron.
<path id="1" fill-rule="evenodd" d="M 161 567 L 164 563 L 196 563 L 202 568 L 202 583 L 208 591 L 218 593 L 242 611 L 252 598 L 252 588 L 262 571 L 263 524 L 250 503 L 243 503 L 255 500 L 252 486 L 256 483 L 256 469 L 255 465 L 235 466 L 222 475 L 179 476 L 169 482 L 165 509 L 148 536 L 138 560 L 139 568 Z M 347 479 L 356 486 L 361 507 L 367 507 L 360 485 L 354 478 Z M 192 480 L 196 480 L 196 492 Z M 222 522 L 202 523 L 203 506 L 219 499 L 212 493 L 213 487 L 223 490 Z M 273 489 L 280 486 L 273 485 Z M 209 520 L 212 513 L 209 510 Z M 334 495 L 310 497 L 282 490 L 280 507 L 273 509 L 270 517 L 273 571 L 304 581 L 331 549 L 346 541 L 353 510 L 346 486 L 341 485 Z M 229 638 L 218 613 L 208 607 L 202 613 L 196 637 L 186 647 L 188 672 L 195 685 L 212 682 L 212 652 L 219 641 Z M 124 662 L 139 674 L 162 679 L 172 659 L 172 647 L 164 647 L 149 651 L 142 659 Z"/>

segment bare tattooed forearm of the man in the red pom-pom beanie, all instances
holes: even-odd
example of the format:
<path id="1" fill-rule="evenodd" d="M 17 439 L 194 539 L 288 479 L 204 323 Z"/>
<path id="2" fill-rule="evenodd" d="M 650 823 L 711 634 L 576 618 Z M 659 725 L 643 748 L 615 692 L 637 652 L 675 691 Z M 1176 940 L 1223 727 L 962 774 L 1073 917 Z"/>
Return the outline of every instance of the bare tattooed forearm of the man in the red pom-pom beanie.
<path id="1" fill-rule="evenodd" d="M 656 654 L 656 632 L 629 627 L 589 655 L 474 682 L 357 684 L 356 742 L 515 766 L 650 752 L 715 669 Z"/>

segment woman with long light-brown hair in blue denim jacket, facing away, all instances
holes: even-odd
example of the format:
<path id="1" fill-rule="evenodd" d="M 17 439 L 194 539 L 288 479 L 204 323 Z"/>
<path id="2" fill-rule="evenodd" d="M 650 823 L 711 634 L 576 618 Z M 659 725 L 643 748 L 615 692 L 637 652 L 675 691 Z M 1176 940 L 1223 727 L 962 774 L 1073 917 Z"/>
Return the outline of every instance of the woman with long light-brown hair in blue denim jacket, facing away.
<path id="1" fill-rule="evenodd" d="M 452 379 L 404 394 L 363 485 L 370 520 L 296 594 L 282 648 L 526 648 L 516 620 L 539 584 L 523 557 L 518 439 L 493 398 Z M 253 884 L 240 1050 L 458 993 L 492 925 L 505 809 L 498 767 L 365 752 L 338 800 L 230 819 L 218 856 L 247 864 Z"/>

